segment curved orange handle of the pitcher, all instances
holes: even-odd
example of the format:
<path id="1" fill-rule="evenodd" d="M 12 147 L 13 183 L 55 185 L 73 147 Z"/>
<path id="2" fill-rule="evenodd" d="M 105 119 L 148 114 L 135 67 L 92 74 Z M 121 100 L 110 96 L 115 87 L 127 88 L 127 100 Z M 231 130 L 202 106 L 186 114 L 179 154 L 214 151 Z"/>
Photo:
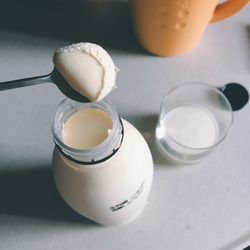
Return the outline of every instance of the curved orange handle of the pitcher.
<path id="1" fill-rule="evenodd" d="M 221 21 L 236 14 L 242 8 L 247 6 L 248 3 L 250 3 L 249 0 L 228 0 L 224 3 L 218 4 L 210 23 Z"/>

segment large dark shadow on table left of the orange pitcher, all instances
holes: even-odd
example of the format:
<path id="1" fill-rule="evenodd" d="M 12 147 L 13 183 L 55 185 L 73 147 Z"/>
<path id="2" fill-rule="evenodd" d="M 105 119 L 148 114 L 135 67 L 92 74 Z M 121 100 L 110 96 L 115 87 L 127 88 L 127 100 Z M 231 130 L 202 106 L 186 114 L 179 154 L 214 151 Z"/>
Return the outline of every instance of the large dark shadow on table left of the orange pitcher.
<path id="1" fill-rule="evenodd" d="M 0 29 L 115 50 L 146 53 L 135 39 L 128 1 L 3 0 Z"/>

